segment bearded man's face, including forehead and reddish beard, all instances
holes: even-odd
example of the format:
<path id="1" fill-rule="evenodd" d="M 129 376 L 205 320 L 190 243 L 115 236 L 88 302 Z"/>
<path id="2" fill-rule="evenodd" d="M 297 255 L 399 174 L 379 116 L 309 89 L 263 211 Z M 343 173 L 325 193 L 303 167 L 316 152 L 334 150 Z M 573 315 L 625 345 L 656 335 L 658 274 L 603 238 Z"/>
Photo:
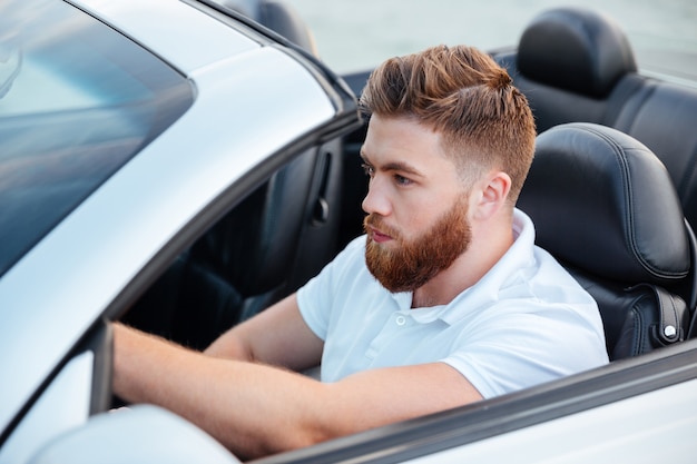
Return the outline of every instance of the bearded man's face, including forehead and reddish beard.
<path id="1" fill-rule="evenodd" d="M 373 116 L 362 156 L 369 269 L 390 292 L 413 292 L 471 241 L 468 200 L 439 136 L 409 119 Z"/>

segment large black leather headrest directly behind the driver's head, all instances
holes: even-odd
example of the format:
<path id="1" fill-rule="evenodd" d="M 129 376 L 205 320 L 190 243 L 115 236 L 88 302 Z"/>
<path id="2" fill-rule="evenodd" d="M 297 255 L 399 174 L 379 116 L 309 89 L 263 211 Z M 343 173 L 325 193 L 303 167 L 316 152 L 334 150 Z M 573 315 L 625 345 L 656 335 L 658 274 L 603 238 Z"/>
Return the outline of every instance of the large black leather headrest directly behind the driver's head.
<path id="1" fill-rule="evenodd" d="M 660 160 L 636 139 L 589 122 L 538 136 L 518 207 L 537 244 L 615 282 L 669 284 L 690 269 L 680 201 Z"/>

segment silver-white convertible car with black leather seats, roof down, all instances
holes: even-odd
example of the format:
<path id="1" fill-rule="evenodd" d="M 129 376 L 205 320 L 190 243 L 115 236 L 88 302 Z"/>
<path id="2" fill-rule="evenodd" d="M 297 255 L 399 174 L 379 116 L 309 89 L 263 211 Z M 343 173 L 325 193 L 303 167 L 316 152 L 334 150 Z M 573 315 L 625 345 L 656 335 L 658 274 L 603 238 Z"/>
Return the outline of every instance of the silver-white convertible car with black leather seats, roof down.
<path id="1" fill-rule="evenodd" d="M 519 207 L 611 363 L 257 462 L 694 462 L 697 82 L 642 75 L 579 8 L 489 51 L 538 124 Z M 109 323 L 203 348 L 361 234 L 369 73 L 327 69 L 275 1 L 2 2 L 0 463 L 238 462 L 112 412 Z"/>

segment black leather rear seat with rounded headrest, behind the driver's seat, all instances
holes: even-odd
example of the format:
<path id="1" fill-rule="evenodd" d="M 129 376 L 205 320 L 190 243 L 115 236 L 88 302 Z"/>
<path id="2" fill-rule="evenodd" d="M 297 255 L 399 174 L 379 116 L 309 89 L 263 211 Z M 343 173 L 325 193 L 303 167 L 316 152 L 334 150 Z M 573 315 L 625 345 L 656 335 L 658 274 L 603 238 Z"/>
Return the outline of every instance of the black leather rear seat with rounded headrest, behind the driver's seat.
<path id="1" fill-rule="evenodd" d="M 538 132 L 587 121 L 635 137 L 664 162 L 697 227 L 697 89 L 640 75 L 620 27 L 583 8 L 539 14 L 517 50 L 493 56 L 528 97 Z"/>

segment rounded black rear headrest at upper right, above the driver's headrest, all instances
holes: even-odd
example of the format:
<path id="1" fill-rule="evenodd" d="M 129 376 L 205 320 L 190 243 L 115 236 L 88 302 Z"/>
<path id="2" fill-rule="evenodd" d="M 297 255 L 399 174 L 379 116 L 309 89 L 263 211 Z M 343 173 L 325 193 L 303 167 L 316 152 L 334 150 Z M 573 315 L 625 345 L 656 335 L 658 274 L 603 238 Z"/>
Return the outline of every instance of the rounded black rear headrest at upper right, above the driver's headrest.
<path id="1" fill-rule="evenodd" d="M 637 65 L 627 37 L 610 18 L 559 8 L 541 13 L 523 31 L 518 69 L 534 81 L 600 98 Z"/>

